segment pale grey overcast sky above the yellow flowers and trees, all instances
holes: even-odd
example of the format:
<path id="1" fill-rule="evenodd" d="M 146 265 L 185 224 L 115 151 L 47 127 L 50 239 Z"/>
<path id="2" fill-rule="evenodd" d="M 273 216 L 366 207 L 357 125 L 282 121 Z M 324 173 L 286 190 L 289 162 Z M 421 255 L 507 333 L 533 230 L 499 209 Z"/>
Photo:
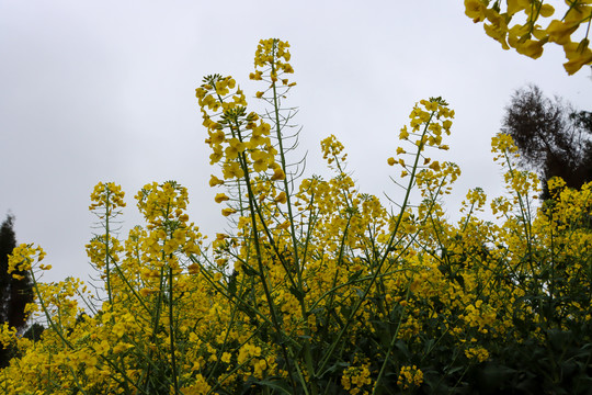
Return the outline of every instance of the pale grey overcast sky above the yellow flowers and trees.
<path id="1" fill-rule="evenodd" d="M 445 159 L 463 170 L 451 218 L 468 188 L 502 193 L 490 139 L 515 89 L 535 83 L 592 110 L 589 69 L 568 77 L 560 48 L 538 60 L 502 50 L 460 0 L 0 0 L 0 215 L 15 215 L 19 242 L 48 252 L 46 280 L 91 272 L 99 181 L 126 191 L 124 230 L 140 222 L 136 192 L 171 179 L 189 188 L 205 234 L 224 229 L 195 88 L 219 72 L 254 95 L 248 75 L 269 37 L 292 46 L 308 174 L 327 174 L 319 142 L 334 134 L 361 189 L 397 196 L 386 159 L 398 129 L 414 102 L 446 99 L 456 121 Z"/>

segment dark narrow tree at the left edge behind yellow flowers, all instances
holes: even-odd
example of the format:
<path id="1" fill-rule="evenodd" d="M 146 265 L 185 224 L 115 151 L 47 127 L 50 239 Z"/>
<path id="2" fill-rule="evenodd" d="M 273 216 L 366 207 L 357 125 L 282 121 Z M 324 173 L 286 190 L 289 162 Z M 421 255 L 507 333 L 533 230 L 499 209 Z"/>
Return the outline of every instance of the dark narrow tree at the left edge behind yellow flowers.
<path id="1" fill-rule="evenodd" d="M 22 332 L 26 327 L 25 306 L 33 302 L 33 284 L 26 272 L 14 272 L 22 280 L 8 273 L 8 256 L 16 247 L 13 223 L 14 216 L 8 215 L 0 226 L 0 324 L 8 323 Z M 11 354 L 12 350 L 0 348 L 0 366 L 8 364 Z"/>

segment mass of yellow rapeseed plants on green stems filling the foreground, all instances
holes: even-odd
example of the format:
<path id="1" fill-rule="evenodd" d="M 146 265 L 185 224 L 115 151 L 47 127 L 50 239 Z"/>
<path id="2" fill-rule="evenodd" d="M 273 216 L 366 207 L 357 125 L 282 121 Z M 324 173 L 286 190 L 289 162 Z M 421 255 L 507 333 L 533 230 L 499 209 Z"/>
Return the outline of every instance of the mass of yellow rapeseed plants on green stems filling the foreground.
<path id="1" fill-rule="evenodd" d="M 496 136 L 500 222 L 477 216 L 488 202 L 479 188 L 448 221 L 443 196 L 460 170 L 428 156 L 447 149 L 454 111 L 442 98 L 413 106 L 387 160 L 402 170 L 397 210 L 358 190 L 333 135 L 321 142 L 333 174 L 301 177 L 286 157 L 289 59 L 287 43 L 260 43 L 251 78 L 265 84 L 262 114 L 231 77 L 196 90 L 221 170 L 209 185 L 230 230 L 206 244 L 187 190 L 167 181 L 136 194 L 144 224 L 119 239 L 124 193 L 100 183 L 90 208 L 101 233 L 87 246 L 100 296 L 71 278 L 37 281 L 48 269 L 41 248 L 13 251 L 11 270 L 35 279 L 27 311 L 47 329 L 33 341 L 0 328 L 18 350 L 0 374 L 4 393 L 467 393 L 478 391 L 467 377 L 550 339 L 559 349 L 546 358 L 574 363 L 561 380 L 576 386 L 580 365 L 585 375 L 592 184 L 551 180 L 553 202 L 537 206 L 536 178 L 516 171 L 513 142 Z M 545 372 L 545 385 L 561 382 Z"/>

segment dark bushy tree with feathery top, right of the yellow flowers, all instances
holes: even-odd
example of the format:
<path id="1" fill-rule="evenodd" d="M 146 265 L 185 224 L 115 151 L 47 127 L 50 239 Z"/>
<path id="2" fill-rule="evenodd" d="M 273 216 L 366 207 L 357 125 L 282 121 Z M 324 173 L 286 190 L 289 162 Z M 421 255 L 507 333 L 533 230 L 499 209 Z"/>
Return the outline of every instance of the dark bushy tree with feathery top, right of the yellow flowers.
<path id="1" fill-rule="evenodd" d="M 516 143 L 522 165 L 540 176 L 543 199 L 549 198 L 553 177 L 576 189 L 592 181 L 592 113 L 528 86 L 512 95 L 501 131 Z"/>

